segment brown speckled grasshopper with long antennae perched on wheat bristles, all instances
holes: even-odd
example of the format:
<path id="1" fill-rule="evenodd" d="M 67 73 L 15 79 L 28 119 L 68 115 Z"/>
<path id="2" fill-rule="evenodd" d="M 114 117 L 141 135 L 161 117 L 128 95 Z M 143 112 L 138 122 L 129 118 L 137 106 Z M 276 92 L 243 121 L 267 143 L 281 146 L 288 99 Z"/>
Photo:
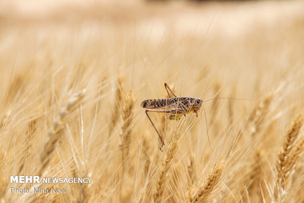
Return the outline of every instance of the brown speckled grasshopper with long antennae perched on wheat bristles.
<path id="1" fill-rule="evenodd" d="M 168 99 L 148 99 L 141 103 L 141 107 L 146 109 L 146 115 L 148 116 L 150 122 L 152 123 L 162 145 L 159 149 L 162 151 L 163 145 L 165 145 L 163 139 L 161 138 L 158 130 L 153 124 L 148 112 L 154 113 L 166 113 L 169 114 L 170 120 L 179 120 L 182 116 L 185 116 L 191 112 L 198 116 L 198 111 L 202 107 L 203 100 L 196 97 L 177 97 L 177 95 L 171 90 L 171 88 L 165 83 L 166 91 L 170 98 Z M 174 95 L 171 97 L 169 91 Z"/>

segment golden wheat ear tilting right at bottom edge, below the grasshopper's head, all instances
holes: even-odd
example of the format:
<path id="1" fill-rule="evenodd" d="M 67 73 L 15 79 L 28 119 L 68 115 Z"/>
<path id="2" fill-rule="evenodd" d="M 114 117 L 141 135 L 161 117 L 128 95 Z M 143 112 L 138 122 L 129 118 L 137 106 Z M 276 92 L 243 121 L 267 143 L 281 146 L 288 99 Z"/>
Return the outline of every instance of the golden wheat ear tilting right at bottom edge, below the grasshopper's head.
<path id="1" fill-rule="evenodd" d="M 224 170 L 224 161 L 219 161 L 214 167 L 205 180 L 203 184 L 198 186 L 195 192 L 189 192 L 189 197 L 185 201 L 186 203 L 198 203 L 207 201 L 209 196 L 212 194 L 216 188 L 217 183 L 220 181 Z"/>

